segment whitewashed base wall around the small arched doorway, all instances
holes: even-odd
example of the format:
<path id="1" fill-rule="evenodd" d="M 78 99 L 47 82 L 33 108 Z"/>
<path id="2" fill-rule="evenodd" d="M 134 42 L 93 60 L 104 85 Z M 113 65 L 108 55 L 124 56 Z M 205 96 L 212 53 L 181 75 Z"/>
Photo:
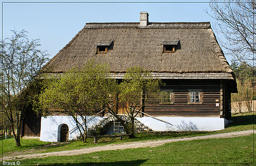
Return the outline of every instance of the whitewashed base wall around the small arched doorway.
<path id="1" fill-rule="evenodd" d="M 87 119 L 89 118 L 91 117 L 87 117 Z M 87 127 L 92 127 L 101 119 L 101 117 L 90 119 L 87 121 Z M 82 122 L 82 119 L 80 118 L 78 121 Z M 68 126 L 68 140 L 73 140 L 80 136 L 76 123 L 71 116 L 47 116 L 41 118 L 40 141 L 60 142 L 60 129 L 63 124 Z"/>

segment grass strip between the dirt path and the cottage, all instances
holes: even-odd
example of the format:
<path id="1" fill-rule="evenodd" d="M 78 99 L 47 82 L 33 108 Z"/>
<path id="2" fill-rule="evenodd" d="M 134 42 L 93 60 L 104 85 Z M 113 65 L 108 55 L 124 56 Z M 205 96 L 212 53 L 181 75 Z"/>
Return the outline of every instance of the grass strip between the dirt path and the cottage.
<path id="1" fill-rule="evenodd" d="M 51 142 L 41 142 L 36 139 L 21 139 L 21 146 L 16 147 L 14 139 L 9 136 L 7 140 L 2 140 L 2 154 L 15 155 L 18 153 L 46 153 L 54 151 L 63 150 L 73 150 L 81 149 L 85 147 L 100 146 L 106 144 L 115 144 L 123 142 L 137 142 L 137 141 L 149 141 L 149 140 L 160 140 L 160 139 L 174 139 L 174 138 L 184 138 L 184 137 L 195 137 L 203 136 L 224 132 L 240 131 L 240 130 L 250 130 L 253 129 L 254 115 L 242 114 L 232 116 L 233 123 L 227 125 L 224 130 L 215 132 L 150 132 L 150 133 L 140 133 L 136 135 L 136 138 L 129 139 L 128 136 L 124 137 L 122 141 L 119 138 L 103 138 L 100 139 L 98 143 L 93 144 L 93 139 L 88 138 L 86 143 L 82 141 L 71 141 L 63 144 L 56 144 Z M 4 137 L 2 137 L 4 138 Z"/>

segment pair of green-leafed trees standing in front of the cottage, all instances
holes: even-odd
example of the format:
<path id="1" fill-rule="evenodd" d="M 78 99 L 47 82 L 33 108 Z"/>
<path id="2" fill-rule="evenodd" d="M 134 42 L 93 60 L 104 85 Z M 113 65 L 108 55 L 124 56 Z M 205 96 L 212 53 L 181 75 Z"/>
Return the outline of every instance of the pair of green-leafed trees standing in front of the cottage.
<path id="1" fill-rule="evenodd" d="M 46 79 L 44 92 L 39 96 L 38 110 L 43 115 L 49 110 L 58 110 L 72 116 L 83 129 L 82 134 L 86 131 L 86 118 L 83 116 L 107 109 L 123 124 L 125 131 L 134 137 L 134 118 L 139 113 L 135 108 L 141 111 L 148 97 L 159 92 L 160 80 L 139 67 L 128 69 L 120 84 L 109 75 L 106 65 L 90 61 L 82 70 L 73 68 L 58 76 L 58 79 Z M 125 106 L 128 122 L 117 115 L 119 104 Z M 83 118 L 85 128 L 77 116 Z"/>

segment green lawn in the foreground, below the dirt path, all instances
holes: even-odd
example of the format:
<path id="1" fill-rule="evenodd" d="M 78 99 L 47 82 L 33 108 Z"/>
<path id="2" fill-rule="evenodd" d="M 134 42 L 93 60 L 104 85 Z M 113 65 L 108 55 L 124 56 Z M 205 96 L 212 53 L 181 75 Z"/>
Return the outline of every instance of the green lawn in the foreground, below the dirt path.
<path id="1" fill-rule="evenodd" d="M 166 143 L 158 147 L 109 150 L 77 156 L 19 160 L 23 165 L 239 165 L 253 164 L 253 136 Z M 231 165 L 232 166 L 232 165 Z"/>

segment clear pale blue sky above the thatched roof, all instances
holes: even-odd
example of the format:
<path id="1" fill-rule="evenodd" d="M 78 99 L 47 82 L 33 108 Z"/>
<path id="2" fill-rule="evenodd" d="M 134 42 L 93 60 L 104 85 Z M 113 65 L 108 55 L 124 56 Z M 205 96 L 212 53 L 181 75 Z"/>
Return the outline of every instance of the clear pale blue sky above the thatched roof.
<path id="1" fill-rule="evenodd" d="M 139 22 L 139 13 L 147 11 L 149 22 L 211 22 L 214 29 L 216 21 L 206 9 L 210 12 L 208 0 L 3 1 L 1 37 L 10 37 L 10 29 L 25 29 L 30 39 L 40 39 L 40 49 L 48 50 L 52 58 L 86 23 Z"/>

